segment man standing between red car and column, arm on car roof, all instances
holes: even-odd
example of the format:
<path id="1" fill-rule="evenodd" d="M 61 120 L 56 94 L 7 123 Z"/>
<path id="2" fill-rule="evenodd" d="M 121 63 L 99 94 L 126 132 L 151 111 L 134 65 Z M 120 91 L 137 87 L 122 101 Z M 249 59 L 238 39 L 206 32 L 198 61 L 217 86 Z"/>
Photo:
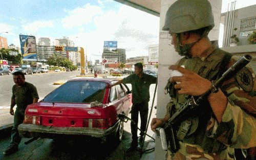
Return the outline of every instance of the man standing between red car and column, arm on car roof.
<path id="1" fill-rule="evenodd" d="M 131 123 L 132 131 L 132 144 L 131 149 L 138 147 L 138 117 L 140 113 L 140 142 L 143 141 L 143 135 L 146 129 L 147 115 L 148 115 L 148 101 L 150 101 L 150 85 L 156 83 L 156 77 L 143 73 L 142 63 L 136 63 L 135 65 L 135 74 L 129 75 L 126 78 L 123 78 L 112 84 L 112 86 L 121 84 L 121 83 L 131 83 L 132 84 L 132 110 L 131 110 L 131 119 L 135 122 Z"/>

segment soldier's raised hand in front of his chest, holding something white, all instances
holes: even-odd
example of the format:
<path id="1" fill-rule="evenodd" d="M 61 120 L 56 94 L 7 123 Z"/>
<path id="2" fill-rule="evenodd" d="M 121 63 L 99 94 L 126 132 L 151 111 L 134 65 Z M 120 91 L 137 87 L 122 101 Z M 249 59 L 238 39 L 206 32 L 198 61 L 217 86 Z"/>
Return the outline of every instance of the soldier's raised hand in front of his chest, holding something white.
<path id="1" fill-rule="evenodd" d="M 177 70 L 182 73 L 182 76 L 174 76 L 169 79 L 170 82 L 180 82 L 174 86 L 175 89 L 178 89 L 179 94 L 200 96 L 204 94 L 211 85 L 211 82 L 207 79 L 181 66 L 171 65 L 169 66 L 169 70 Z"/>

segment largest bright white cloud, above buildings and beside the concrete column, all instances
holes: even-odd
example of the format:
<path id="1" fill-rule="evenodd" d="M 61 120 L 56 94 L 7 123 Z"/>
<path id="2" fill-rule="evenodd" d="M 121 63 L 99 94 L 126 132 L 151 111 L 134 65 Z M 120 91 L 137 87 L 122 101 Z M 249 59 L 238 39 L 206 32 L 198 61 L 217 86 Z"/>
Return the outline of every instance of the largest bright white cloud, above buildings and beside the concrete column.
<path id="1" fill-rule="evenodd" d="M 108 40 L 116 40 L 118 48 L 125 49 L 126 58 L 148 55 L 148 46 L 158 44 L 159 17 L 154 15 L 124 5 L 115 11 L 103 10 L 92 20 L 93 31 L 79 28 L 80 33 L 69 35 L 87 51 L 88 59 L 101 59 L 103 42 Z"/>

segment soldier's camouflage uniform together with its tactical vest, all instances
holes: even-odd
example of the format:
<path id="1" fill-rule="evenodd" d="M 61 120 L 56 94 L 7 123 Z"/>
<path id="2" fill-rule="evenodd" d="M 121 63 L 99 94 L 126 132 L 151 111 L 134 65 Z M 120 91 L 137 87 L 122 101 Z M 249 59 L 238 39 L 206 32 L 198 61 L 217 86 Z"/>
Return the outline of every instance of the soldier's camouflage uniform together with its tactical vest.
<path id="1" fill-rule="evenodd" d="M 186 69 L 212 80 L 215 76 L 211 75 L 218 72 L 221 64 L 211 62 L 221 61 L 225 52 L 214 45 L 205 52 L 209 52 L 206 58 L 182 58 L 178 65 L 185 65 Z M 238 59 L 238 56 L 232 56 L 227 68 Z M 205 71 L 202 68 L 206 68 Z M 191 119 L 191 126 L 185 135 L 179 132 L 182 125 L 179 126 L 177 136 L 180 149 L 175 154 L 168 150 L 166 159 L 234 159 L 234 148 L 247 149 L 256 146 L 256 81 L 251 67 L 247 65 L 236 76 L 225 81 L 221 89 L 228 98 L 221 123 L 218 124 L 209 104 L 202 103 L 201 108 L 208 109 L 200 110 L 201 113 L 196 113 L 196 116 L 194 113 L 188 116 L 185 121 Z M 174 94 L 167 104 L 168 116 L 190 97 L 178 95 L 174 88 L 172 90 Z"/>

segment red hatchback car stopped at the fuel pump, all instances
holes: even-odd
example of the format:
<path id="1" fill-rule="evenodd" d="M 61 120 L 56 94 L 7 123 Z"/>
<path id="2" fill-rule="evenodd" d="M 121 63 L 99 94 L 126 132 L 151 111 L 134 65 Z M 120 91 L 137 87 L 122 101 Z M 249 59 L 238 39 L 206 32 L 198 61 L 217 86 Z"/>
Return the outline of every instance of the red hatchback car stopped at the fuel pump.
<path id="1" fill-rule="evenodd" d="M 132 94 L 125 84 L 110 88 L 117 80 L 81 78 L 69 80 L 38 103 L 28 105 L 25 120 L 18 126 L 26 138 L 96 138 L 120 142 L 123 122 Z"/>

